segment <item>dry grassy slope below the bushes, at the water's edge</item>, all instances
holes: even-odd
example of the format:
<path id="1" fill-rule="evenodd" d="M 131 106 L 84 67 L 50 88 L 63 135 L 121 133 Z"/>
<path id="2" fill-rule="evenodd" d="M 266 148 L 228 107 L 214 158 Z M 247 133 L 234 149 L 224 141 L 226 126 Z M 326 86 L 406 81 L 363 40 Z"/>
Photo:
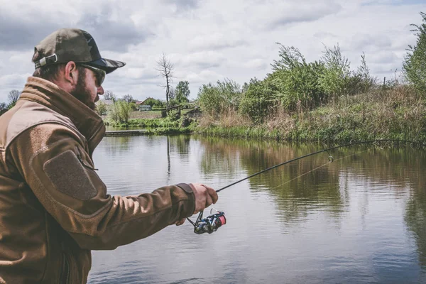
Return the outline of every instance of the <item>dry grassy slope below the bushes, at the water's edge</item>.
<path id="1" fill-rule="evenodd" d="M 344 143 L 386 138 L 424 142 L 426 104 L 412 88 L 402 85 L 332 99 L 312 111 L 271 111 L 262 124 L 253 124 L 236 111 L 204 116 L 195 132 L 278 141 Z"/>

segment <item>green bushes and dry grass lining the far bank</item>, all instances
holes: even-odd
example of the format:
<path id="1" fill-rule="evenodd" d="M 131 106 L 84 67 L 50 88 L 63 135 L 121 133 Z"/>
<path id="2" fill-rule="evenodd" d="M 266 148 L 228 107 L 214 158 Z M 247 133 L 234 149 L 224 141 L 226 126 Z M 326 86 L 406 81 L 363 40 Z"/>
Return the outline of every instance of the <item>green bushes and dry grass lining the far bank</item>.
<path id="1" fill-rule="evenodd" d="M 401 77 L 371 76 L 366 56 L 356 70 L 339 45 L 324 45 L 307 62 L 293 46 L 279 46 L 278 60 L 263 80 L 203 84 L 192 104 L 202 116 L 174 111 L 160 119 L 105 119 L 108 125 L 147 128 L 147 134 L 198 133 L 229 138 L 346 143 L 376 139 L 426 141 L 426 14 L 415 27 Z M 115 103 L 114 103 L 115 104 Z M 136 111 L 133 111 L 136 112 Z M 108 116 L 107 116 L 108 117 Z"/>

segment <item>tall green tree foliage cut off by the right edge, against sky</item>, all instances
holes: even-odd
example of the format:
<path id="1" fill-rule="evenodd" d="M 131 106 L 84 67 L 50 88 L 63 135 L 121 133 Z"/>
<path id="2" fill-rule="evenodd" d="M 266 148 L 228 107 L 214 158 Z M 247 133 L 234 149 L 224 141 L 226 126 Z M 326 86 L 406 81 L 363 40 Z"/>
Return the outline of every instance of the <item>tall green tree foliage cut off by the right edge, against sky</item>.
<path id="1" fill-rule="evenodd" d="M 407 80 L 413 84 L 417 92 L 426 95 L 426 13 L 420 12 L 422 25 L 411 24 L 417 32 L 415 46 L 408 45 L 408 53 L 403 62 L 403 72 Z"/>

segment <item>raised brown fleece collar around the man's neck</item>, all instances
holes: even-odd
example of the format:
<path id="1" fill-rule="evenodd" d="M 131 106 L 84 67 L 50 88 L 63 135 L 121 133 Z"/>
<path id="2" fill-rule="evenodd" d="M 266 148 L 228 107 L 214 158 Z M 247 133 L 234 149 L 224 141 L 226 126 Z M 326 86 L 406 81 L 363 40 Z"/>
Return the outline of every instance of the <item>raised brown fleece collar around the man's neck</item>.
<path id="1" fill-rule="evenodd" d="M 86 137 L 90 152 L 96 148 L 104 136 L 105 125 L 102 118 L 53 82 L 38 77 L 28 77 L 19 99 L 38 102 L 67 116 L 78 131 Z"/>

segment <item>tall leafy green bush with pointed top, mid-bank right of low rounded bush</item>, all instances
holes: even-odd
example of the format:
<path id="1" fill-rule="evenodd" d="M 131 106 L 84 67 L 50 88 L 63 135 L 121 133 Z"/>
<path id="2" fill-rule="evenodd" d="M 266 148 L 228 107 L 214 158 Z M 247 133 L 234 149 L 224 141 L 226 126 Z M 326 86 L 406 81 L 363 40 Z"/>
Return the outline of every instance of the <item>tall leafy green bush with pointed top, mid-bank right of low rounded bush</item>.
<path id="1" fill-rule="evenodd" d="M 277 88 L 284 109 L 311 109 L 324 99 L 318 82 L 324 71 L 322 62 L 307 63 L 297 48 L 280 45 L 279 60 L 274 60 L 273 73 L 268 75 Z"/>

